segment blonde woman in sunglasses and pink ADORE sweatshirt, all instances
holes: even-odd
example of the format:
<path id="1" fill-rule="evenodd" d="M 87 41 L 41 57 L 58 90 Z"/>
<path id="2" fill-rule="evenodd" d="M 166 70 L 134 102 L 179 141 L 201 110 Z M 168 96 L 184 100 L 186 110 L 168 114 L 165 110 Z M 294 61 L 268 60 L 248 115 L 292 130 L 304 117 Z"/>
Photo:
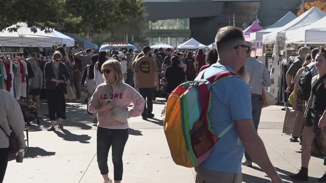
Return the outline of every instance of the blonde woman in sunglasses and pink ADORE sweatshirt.
<path id="1" fill-rule="evenodd" d="M 89 101 L 88 110 L 91 113 L 97 113 L 97 162 L 104 183 L 112 183 L 108 176 L 107 163 L 111 145 L 114 183 L 120 183 L 123 174 L 122 154 L 129 136 L 128 122 L 115 120 L 117 118 L 113 119 L 111 112 L 116 107 L 123 109 L 120 114 L 127 115 L 128 118 L 140 116 L 144 109 L 145 100 L 135 89 L 123 83 L 119 61 L 106 61 L 103 63 L 101 71 L 105 82 L 96 88 Z M 128 106 L 131 103 L 134 106 L 128 111 Z"/>

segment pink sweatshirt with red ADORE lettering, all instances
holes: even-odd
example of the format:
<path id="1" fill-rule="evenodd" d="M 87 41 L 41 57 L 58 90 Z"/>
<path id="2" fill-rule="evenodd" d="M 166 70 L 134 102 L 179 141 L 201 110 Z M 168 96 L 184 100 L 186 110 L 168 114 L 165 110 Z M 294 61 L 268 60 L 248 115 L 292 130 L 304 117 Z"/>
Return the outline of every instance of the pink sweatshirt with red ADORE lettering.
<path id="1" fill-rule="evenodd" d="M 115 107 L 127 109 L 128 106 L 133 103 L 134 106 L 129 110 L 128 118 L 140 116 L 145 105 L 144 98 L 142 98 L 135 89 L 125 83 L 122 83 L 119 88 L 115 84 L 112 84 L 111 86 L 113 91 L 110 94 L 110 98 L 115 102 Z M 89 101 L 88 111 L 90 113 L 97 113 L 95 107 L 102 106 L 108 99 L 105 88 L 106 83 L 102 83 L 96 88 L 91 100 Z M 97 113 L 97 126 L 111 129 L 127 129 L 128 122 L 123 123 L 114 120 L 111 117 L 111 110 L 112 109 Z"/>

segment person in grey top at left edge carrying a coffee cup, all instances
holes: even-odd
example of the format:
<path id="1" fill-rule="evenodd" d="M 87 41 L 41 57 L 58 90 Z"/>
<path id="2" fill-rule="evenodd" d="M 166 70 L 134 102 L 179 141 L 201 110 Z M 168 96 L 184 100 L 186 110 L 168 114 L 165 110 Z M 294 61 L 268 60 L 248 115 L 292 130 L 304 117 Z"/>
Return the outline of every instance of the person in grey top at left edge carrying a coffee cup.
<path id="1" fill-rule="evenodd" d="M 8 153 L 15 154 L 19 149 L 27 151 L 25 143 L 25 121 L 22 110 L 8 91 L 0 90 L 0 182 L 3 181 L 7 164 Z M 12 129 L 12 132 L 10 131 Z"/>

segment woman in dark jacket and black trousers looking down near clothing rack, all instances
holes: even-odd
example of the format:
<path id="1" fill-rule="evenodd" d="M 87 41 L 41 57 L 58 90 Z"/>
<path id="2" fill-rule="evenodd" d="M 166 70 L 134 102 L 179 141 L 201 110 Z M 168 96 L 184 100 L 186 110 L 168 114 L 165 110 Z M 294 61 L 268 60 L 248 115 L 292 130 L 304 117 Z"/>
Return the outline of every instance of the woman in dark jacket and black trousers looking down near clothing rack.
<path id="1" fill-rule="evenodd" d="M 48 100 L 49 117 L 51 126 L 48 131 L 54 131 L 55 113 L 58 118 L 58 128 L 63 128 L 62 117 L 64 113 L 63 99 L 65 98 L 64 90 L 70 84 L 70 74 L 66 64 L 61 62 L 62 56 L 56 51 L 53 54 L 53 60 L 47 62 L 44 66 L 45 93 Z"/>

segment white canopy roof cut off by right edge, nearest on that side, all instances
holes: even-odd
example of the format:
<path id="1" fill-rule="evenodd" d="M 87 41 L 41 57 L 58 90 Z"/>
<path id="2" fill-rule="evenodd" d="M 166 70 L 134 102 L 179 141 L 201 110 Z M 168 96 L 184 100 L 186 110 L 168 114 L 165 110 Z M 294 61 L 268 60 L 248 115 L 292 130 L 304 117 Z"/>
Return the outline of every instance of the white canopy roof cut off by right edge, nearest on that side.
<path id="1" fill-rule="evenodd" d="M 297 44 L 325 44 L 326 43 L 326 17 L 297 30 L 286 34 L 286 43 Z"/>

